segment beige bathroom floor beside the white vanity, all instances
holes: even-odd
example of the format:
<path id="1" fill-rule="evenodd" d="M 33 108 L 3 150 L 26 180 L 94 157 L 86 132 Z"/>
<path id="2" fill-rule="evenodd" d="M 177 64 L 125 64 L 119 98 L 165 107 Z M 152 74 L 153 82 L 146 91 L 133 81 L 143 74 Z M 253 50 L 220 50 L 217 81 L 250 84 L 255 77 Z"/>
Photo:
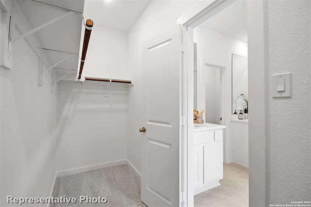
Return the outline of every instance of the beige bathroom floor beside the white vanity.
<path id="1" fill-rule="evenodd" d="M 194 196 L 195 207 L 248 207 L 248 168 L 224 163 L 220 186 Z"/>

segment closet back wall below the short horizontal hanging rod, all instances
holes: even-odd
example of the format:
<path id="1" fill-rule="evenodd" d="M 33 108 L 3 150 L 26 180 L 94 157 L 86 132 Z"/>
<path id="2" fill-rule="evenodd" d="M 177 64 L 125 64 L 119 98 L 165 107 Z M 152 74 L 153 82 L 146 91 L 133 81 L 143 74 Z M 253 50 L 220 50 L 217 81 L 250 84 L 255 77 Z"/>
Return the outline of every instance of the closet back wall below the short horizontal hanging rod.
<path id="1" fill-rule="evenodd" d="M 126 159 L 129 86 L 113 83 L 104 97 L 105 84 L 60 81 L 57 172 Z"/>

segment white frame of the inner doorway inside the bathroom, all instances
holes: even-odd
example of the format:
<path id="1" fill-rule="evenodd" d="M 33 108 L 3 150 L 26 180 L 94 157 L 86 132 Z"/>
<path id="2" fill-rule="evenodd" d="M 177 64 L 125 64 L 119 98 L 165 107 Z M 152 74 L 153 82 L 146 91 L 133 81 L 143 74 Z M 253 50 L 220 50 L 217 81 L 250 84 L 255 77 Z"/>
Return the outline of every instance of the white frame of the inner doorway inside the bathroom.
<path id="1" fill-rule="evenodd" d="M 225 66 L 221 66 L 221 65 L 217 65 L 217 64 L 210 64 L 206 61 L 205 58 L 201 59 L 201 65 L 199 65 L 197 67 L 197 88 L 199 88 L 199 84 L 201 84 L 201 86 L 203 86 L 203 83 L 201 81 L 198 81 L 198 77 L 202 77 L 202 73 L 204 68 L 206 68 L 207 66 L 209 67 L 214 67 L 214 68 L 219 68 L 220 70 L 220 114 L 219 117 L 222 117 L 222 120 L 220 121 L 221 125 L 225 125 Z M 199 99 L 197 98 L 197 104 L 199 103 Z M 224 162 L 226 163 L 227 159 L 227 139 L 226 139 L 226 128 L 224 128 Z"/>

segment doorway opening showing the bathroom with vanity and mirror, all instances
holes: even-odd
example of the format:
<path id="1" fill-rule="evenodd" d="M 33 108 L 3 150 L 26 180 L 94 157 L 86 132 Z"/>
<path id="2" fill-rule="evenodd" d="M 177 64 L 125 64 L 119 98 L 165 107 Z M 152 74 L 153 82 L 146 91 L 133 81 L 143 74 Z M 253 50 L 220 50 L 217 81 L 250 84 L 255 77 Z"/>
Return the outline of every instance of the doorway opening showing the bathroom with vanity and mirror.
<path id="1" fill-rule="evenodd" d="M 195 207 L 248 206 L 246 13 L 237 0 L 193 28 Z"/>

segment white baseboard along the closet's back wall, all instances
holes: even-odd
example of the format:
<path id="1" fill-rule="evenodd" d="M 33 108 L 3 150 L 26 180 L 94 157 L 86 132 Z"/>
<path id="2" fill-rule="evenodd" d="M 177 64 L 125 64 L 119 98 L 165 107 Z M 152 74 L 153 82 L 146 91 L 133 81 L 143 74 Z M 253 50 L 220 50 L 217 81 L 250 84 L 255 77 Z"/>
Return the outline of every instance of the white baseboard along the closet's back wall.
<path id="1" fill-rule="evenodd" d="M 84 172 L 88 172 L 88 171 L 92 171 L 92 170 L 99 170 L 99 169 L 102 169 L 105 167 L 113 167 L 113 166 L 123 165 L 123 164 L 127 164 L 126 159 L 121 159 L 118 161 L 106 162 L 106 163 L 102 163 L 102 164 L 91 165 L 91 166 L 86 166 L 86 167 L 81 167 L 81 168 L 75 168 L 75 169 L 71 169 L 71 170 L 60 171 L 60 172 L 56 173 L 56 177 L 61 177 L 61 176 L 65 176 L 65 175 L 74 175 L 77 173 L 84 173 Z"/>

